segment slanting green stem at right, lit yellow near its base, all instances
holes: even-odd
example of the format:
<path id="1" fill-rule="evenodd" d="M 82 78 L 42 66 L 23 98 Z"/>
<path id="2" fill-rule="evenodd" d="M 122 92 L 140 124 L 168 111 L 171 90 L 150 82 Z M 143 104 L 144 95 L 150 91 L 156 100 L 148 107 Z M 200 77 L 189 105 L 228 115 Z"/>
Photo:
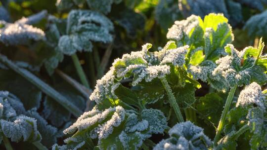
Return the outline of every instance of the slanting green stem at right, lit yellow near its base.
<path id="1" fill-rule="evenodd" d="M 229 108 L 231 106 L 236 87 L 237 87 L 237 85 L 235 85 L 234 87 L 232 87 L 230 89 L 228 97 L 226 99 L 226 102 L 225 102 L 225 105 L 224 105 L 224 109 L 223 109 L 223 113 L 222 113 L 222 116 L 221 116 L 221 119 L 220 119 L 220 122 L 219 122 L 219 125 L 218 125 L 218 128 L 217 128 L 217 132 L 216 132 L 216 135 L 215 135 L 215 138 L 214 138 L 214 145 L 215 146 L 217 145 L 217 142 L 219 141 L 219 139 L 221 137 L 221 133 L 223 131 L 223 125 L 224 125 L 224 122 L 225 122 L 226 114 L 227 114 L 227 112 L 228 112 L 228 110 L 229 110 Z"/>

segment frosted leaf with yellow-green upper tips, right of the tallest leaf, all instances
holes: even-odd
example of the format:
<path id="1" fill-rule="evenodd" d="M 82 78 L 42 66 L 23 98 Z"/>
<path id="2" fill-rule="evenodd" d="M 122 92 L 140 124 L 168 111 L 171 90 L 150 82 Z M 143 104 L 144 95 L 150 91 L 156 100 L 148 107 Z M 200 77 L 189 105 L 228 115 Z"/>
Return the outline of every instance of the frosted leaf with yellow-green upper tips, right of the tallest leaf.
<path id="1" fill-rule="evenodd" d="M 246 47 L 239 52 L 233 45 L 228 44 L 225 46 L 225 52 L 228 55 L 216 61 L 218 66 L 213 71 L 211 78 L 223 83 L 225 87 L 221 86 L 221 88 L 226 90 L 229 86 L 248 85 L 253 81 L 265 84 L 267 82 L 267 75 L 264 73 L 264 69 L 254 63 L 255 59 L 253 57 L 249 57 L 255 56 L 253 51 L 253 48 Z M 241 63 L 241 60 L 244 63 Z M 214 87 L 220 89 L 219 86 Z"/>

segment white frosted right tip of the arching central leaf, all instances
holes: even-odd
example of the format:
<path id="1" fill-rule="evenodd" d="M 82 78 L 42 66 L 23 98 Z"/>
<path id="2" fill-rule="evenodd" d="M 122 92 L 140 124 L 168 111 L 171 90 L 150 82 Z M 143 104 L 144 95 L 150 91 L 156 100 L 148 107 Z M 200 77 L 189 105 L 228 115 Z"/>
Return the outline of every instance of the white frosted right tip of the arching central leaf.
<path id="1" fill-rule="evenodd" d="M 188 45 L 163 51 L 163 59 L 160 64 L 172 63 L 174 66 L 182 66 L 185 63 L 185 54 L 187 53 Z"/>

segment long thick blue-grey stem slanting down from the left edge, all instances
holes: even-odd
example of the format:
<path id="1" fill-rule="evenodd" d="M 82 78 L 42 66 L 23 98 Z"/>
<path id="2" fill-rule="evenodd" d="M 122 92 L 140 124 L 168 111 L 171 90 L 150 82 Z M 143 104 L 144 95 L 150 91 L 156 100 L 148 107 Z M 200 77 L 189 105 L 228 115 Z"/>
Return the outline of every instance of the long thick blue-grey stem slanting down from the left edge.
<path id="1" fill-rule="evenodd" d="M 40 90 L 42 90 L 42 92 L 44 92 L 47 96 L 50 96 L 57 103 L 63 106 L 66 110 L 73 113 L 76 117 L 80 116 L 83 113 L 79 108 L 77 108 L 75 105 L 70 103 L 70 101 L 67 100 L 66 97 L 64 97 L 59 92 L 57 92 L 55 89 L 53 89 L 51 86 L 46 84 L 39 77 L 32 74 L 26 69 L 18 67 L 12 61 L 10 61 L 6 56 L 0 54 L 0 62 L 6 65 L 11 70 L 13 70 L 14 72 L 16 72 L 17 74 L 26 78 L 28 81 L 30 81 L 32 84 L 37 86 Z"/>

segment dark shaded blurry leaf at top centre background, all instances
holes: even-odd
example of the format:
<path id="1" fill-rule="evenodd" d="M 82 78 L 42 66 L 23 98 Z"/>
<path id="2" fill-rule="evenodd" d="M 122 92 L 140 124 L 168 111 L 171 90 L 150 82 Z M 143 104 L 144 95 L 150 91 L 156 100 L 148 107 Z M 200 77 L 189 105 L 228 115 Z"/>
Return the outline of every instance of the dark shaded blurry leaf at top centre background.
<path id="1" fill-rule="evenodd" d="M 118 25 L 122 26 L 127 35 L 130 38 L 135 38 L 137 31 L 142 31 L 145 26 L 145 17 L 140 14 L 134 12 L 134 10 L 125 8 L 112 16 L 114 22 Z"/>

